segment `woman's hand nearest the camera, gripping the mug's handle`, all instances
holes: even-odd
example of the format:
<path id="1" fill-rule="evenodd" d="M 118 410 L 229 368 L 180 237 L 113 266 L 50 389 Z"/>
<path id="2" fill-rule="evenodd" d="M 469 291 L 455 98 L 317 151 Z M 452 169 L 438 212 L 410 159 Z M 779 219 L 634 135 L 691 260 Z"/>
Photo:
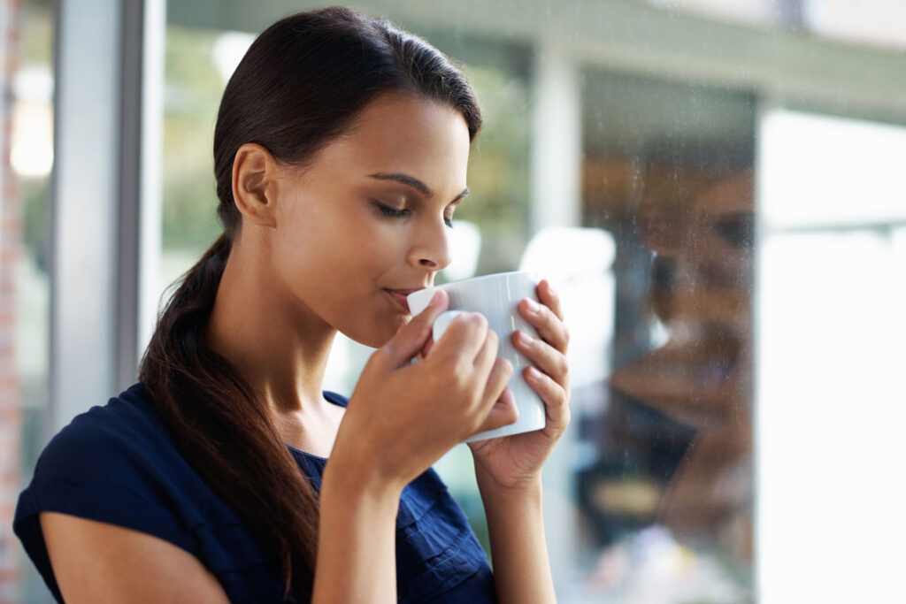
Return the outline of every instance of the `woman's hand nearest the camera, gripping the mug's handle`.
<path id="1" fill-rule="evenodd" d="M 372 355 L 346 407 L 331 455 L 345 468 L 402 489 L 467 437 L 516 421 L 499 401 L 513 367 L 478 313 L 454 319 L 424 357 L 431 325 L 448 307 L 438 292 L 425 311 Z M 499 402 L 498 402 L 499 401 Z"/>

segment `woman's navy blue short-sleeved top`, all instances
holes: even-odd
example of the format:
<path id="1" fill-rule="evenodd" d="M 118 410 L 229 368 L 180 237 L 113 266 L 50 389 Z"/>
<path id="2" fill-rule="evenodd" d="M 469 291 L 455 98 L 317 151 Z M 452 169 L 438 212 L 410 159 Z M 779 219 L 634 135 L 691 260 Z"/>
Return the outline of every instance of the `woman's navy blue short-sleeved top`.
<path id="1" fill-rule="evenodd" d="M 346 406 L 340 395 L 324 397 Z M 327 460 L 289 450 L 320 488 Z M 142 384 L 75 417 L 54 436 L 19 496 L 14 531 L 53 596 L 63 601 L 38 522 L 41 512 L 111 523 L 171 542 L 211 570 L 231 601 L 283 600 L 275 558 L 179 455 Z M 396 559 L 400 602 L 496 601 L 485 553 L 432 469 L 402 492 Z"/>

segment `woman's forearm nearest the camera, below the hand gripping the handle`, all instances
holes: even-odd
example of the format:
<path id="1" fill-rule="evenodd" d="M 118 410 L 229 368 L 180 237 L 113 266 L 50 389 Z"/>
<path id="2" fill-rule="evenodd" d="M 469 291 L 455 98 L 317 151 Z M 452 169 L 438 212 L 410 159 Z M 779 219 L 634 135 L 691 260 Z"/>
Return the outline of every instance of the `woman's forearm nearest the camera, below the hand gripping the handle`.
<path id="1" fill-rule="evenodd" d="M 401 488 L 336 469 L 328 464 L 321 489 L 312 602 L 395 602 Z"/>

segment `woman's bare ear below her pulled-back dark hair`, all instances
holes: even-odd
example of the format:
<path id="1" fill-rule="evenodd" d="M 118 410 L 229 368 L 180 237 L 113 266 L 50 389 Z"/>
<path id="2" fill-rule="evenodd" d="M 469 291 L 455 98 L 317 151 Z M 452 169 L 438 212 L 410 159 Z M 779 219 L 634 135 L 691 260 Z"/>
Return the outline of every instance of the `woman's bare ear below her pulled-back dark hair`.
<path id="1" fill-rule="evenodd" d="M 275 180 L 280 170 L 270 151 L 246 143 L 233 159 L 233 200 L 245 220 L 260 226 L 276 226 Z"/>

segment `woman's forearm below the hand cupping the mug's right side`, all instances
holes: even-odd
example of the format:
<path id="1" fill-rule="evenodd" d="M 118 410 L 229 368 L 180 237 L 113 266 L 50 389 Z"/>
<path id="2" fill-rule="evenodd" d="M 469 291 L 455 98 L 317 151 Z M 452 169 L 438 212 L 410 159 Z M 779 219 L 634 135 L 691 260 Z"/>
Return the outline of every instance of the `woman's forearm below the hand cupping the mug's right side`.
<path id="1" fill-rule="evenodd" d="M 476 475 L 487 515 L 497 598 L 504 604 L 555 602 L 540 478 L 528 488 L 510 490 L 480 470 Z"/>

